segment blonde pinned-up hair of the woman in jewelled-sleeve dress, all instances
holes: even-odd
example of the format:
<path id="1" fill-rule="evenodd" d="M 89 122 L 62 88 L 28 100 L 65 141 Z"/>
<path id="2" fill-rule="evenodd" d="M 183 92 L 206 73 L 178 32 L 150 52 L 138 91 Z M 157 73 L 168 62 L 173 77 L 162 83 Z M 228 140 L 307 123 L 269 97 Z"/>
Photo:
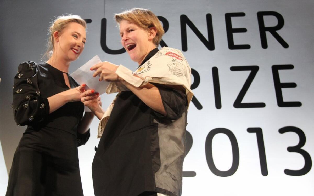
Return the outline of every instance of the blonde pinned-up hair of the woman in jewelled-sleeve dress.
<path id="1" fill-rule="evenodd" d="M 53 33 L 54 32 L 59 32 L 62 33 L 62 30 L 67 27 L 69 23 L 78 23 L 86 29 L 86 22 L 84 19 L 82 19 L 78 15 L 62 15 L 59 17 L 56 17 L 54 21 L 52 21 L 52 24 L 49 27 L 49 38 L 47 42 L 47 50 L 42 59 L 49 59 L 51 57 L 53 48 L 54 48 L 54 39 L 53 39 Z"/>

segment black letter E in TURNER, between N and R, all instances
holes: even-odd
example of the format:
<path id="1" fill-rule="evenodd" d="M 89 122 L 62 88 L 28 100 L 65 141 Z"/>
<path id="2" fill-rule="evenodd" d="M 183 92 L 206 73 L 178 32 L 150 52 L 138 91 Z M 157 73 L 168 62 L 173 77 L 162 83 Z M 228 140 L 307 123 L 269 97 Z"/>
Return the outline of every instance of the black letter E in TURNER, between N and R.
<path id="1" fill-rule="evenodd" d="M 226 20 L 226 30 L 227 30 L 227 40 L 228 47 L 230 50 L 239 50 L 239 49 L 250 49 L 251 46 L 248 44 L 235 45 L 233 40 L 233 33 L 245 33 L 247 31 L 246 28 L 232 28 L 231 17 L 243 17 L 245 16 L 244 12 L 235 12 L 235 13 L 225 13 Z"/>

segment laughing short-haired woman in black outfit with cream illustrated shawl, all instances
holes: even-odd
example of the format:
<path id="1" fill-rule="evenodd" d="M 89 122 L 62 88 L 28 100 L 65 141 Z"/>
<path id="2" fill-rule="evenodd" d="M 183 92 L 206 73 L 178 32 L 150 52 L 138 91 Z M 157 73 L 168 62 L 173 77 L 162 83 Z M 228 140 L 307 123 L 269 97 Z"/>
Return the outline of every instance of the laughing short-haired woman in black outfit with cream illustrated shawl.
<path id="1" fill-rule="evenodd" d="M 151 11 L 133 8 L 115 19 L 122 46 L 139 66 L 91 67 L 94 77 L 111 81 L 107 93 L 118 92 L 106 111 L 96 99 L 83 100 L 100 119 L 95 196 L 180 196 L 191 68 L 180 50 L 157 48 L 164 30 Z"/>

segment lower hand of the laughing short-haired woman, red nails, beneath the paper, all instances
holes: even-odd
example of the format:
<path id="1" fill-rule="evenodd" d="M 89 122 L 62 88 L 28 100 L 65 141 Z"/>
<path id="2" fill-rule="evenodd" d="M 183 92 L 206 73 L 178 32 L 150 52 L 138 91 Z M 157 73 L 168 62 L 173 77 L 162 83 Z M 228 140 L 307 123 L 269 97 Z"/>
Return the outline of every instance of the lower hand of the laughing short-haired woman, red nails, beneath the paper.
<path id="1" fill-rule="evenodd" d="M 84 105 L 86 105 L 93 113 L 99 107 L 101 108 L 101 101 L 99 93 L 95 93 L 95 90 L 87 90 L 81 93 L 80 100 Z"/>

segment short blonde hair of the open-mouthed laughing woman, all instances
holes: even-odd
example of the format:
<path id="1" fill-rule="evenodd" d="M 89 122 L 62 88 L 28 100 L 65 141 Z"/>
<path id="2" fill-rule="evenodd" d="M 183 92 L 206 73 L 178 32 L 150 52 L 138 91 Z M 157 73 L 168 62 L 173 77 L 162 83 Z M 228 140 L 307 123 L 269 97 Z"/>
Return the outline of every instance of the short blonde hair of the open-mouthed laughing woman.
<path id="1" fill-rule="evenodd" d="M 153 43 L 158 46 L 162 36 L 165 34 L 163 27 L 160 24 L 157 16 L 149 9 L 132 8 L 125 10 L 121 13 L 115 14 L 115 20 L 118 24 L 122 20 L 127 20 L 130 23 L 136 24 L 142 29 L 149 30 L 151 27 L 155 27 L 157 30 L 156 36 L 153 39 Z"/>

